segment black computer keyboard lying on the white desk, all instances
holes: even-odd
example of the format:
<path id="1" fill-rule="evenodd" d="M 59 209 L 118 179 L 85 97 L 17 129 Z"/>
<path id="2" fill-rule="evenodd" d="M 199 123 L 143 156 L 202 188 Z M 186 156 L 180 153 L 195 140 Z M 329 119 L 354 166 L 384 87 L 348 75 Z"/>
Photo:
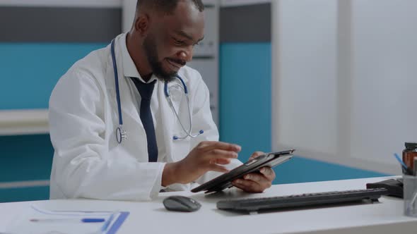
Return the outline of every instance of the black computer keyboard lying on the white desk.
<path id="1" fill-rule="evenodd" d="M 375 188 L 367 190 L 305 193 L 302 195 L 289 195 L 281 197 L 229 199 L 217 202 L 217 208 L 251 212 L 269 209 L 288 209 L 293 207 L 310 207 L 328 204 L 343 204 L 347 202 L 361 202 L 363 199 L 368 199 L 371 202 L 377 202 L 381 195 L 388 195 L 388 190 L 385 188 Z"/>

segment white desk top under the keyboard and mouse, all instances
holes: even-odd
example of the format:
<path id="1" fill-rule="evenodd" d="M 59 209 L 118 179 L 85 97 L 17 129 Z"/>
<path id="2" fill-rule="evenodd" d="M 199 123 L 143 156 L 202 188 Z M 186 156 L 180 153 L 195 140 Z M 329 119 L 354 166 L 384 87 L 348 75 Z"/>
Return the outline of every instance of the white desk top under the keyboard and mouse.
<path id="1" fill-rule="evenodd" d="M 86 209 L 130 211 L 119 233 L 417 233 L 417 218 L 403 215 L 403 200 L 382 197 L 377 204 L 276 211 L 255 215 L 235 214 L 216 209 L 218 199 L 261 197 L 305 192 L 364 189 L 365 183 L 385 178 L 335 180 L 318 183 L 274 185 L 263 194 L 228 190 L 221 195 L 205 196 L 191 192 L 162 193 L 151 202 L 110 202 L 96 200 L 52 200 L 0 204 L 0 230 L 13 215 L 37 204 L 46 209 Z M 188 195 L 201 202 L 193 213 L 166 211 L 162 200 L 169 195 Z"/>

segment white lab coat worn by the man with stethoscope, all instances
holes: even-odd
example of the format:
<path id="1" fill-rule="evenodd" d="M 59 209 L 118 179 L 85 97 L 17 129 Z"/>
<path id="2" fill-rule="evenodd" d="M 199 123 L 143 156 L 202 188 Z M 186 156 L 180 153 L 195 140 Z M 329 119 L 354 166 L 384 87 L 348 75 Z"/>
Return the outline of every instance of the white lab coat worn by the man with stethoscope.
<path id="1" fill-rule="evenodd" d="M 180 161 L 201 141 L 218 140 L 218 130 L 211 117 L 209 90 L 201 75 L 184 66 L 179 75 L 189 90 L 192 111 L 192 133 L 204 134 L 186 140 L 172 140 L 173 135 L 184 135 L 175 113 L 158 80 L 158 103 L 163 128 L 166 155 L 158 162 L 148 162 L 146 133 L 137 103 L 131 92 L 131 81 L 124 78 L 121 40 L 115 39 L 115 54 L 119 74 L 119 90 L 124 130 L 128 139 L 116 140 L 119 125 L 114 71 L 110 45 L 93 51 L 72 66 L 59 80 L 49 100 L 49 130 L 55 149 L 52 164 L 50 198 L 92 198 L 117 200 L 147 200 L 163 188 L 161 179 L 166 163 Z M 172 92 L 175 108 L 187 110 L 187 99 L 182 90 Z M 155 97 L 155 96 L 154 96 Z M 184 125 L 189 124 L 188 112 L 180 113 Z M 159 144 L 159 143 L 158 143 Z M 241 162 L 234 159 L 228 168 Z M 209 172 L 192 184 L 174 184 L 168 190 L 189 190 L 218 176 Z"/>

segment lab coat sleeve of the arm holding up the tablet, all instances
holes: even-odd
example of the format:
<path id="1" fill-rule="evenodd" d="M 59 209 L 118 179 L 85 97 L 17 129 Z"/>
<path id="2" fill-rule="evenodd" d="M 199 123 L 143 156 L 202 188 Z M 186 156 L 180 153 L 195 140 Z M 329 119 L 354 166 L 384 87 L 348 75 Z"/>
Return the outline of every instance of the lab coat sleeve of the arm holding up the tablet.
<path id="1" fill-rule="evenodd" d="M 204 133 L 199 137 L 192 138 L 191 149 L 196 147 L 202 141 L 218 141 L 218 129 L 216 123 L 213 121 L 210 109 L 210 92 L 206 84 L 201 78 L 201 75 L 195 71 L 196 77 L 199 80 L 196 82 L 196 87 L 193 89 L 192 100 L 194 100 L 192 109 L 193 130 L 192 133 L 198 133 L 199 130 L 204 130 Z M 242 165 L 238 159 L 232 159 L 230 164 L 226 165 L 229 170 Z M 209 171 L 201 176 L 195 182 L 198 184 L 206 183 L 207 181 L 220 176 L 222 173 Z"/>

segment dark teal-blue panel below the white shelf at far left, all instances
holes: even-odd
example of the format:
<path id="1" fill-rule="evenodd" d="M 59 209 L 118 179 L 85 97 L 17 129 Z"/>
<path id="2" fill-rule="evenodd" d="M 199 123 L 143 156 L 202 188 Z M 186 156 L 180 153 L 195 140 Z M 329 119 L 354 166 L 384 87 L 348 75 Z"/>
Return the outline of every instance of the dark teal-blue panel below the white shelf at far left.
<path id="1" fill-rule="evenodd" d="M 49 180 L 54 149 L 49 135 L 0 137 L 0 183 Z M 0 189 L 0 202 L 49 199 L 49 186 Z"/>

